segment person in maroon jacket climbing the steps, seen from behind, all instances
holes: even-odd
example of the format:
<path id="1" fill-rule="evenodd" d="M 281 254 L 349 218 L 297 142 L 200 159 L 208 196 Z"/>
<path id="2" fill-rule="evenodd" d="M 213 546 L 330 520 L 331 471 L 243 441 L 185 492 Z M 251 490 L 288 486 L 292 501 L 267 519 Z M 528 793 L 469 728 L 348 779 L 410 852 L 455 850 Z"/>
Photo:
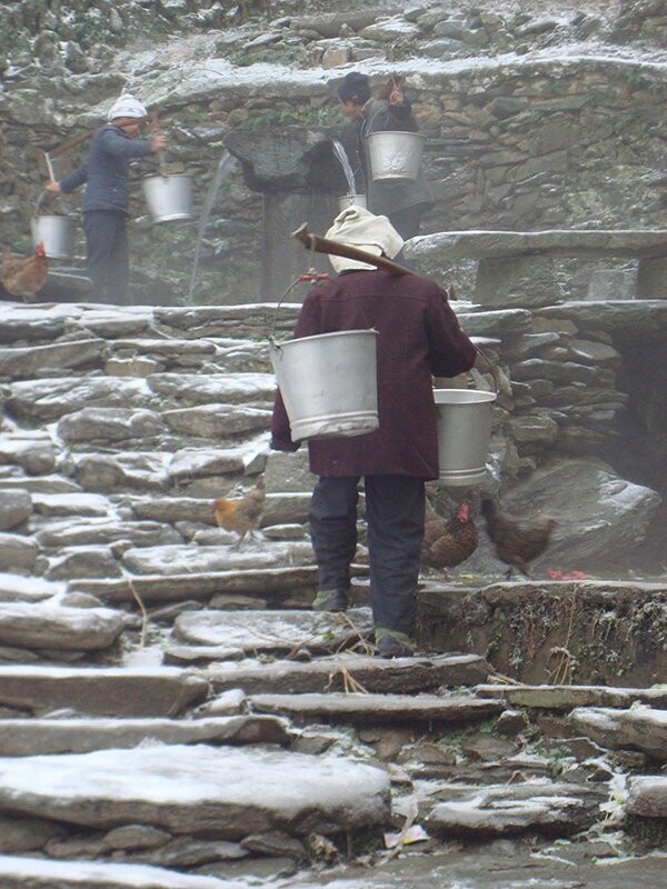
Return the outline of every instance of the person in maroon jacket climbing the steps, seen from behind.
<path id="1" fill-rule="evenodd" d="M 361 207 L 339 213 L 326 237 L 389 258 L 402 247 L 387 217 Z M 310 471 L 319 477 L 309 513 L 319 575 L 312 607 L 344 611 L 348 606 L 357 548 L 357 486 L 364 478 L 376 647 L 385 657 L 408 655 L 412 652 L 425 482 L 439 477 L 432 377 L 469 370 L 477 352 L 435 282 L 340 257 L 329 259 L 339 274 L 308 293 L 293 336 L 378 331 L 379 428 L 308 442 Z M 291 439 L 278 392 L 271 447 L 295 451 L 299 444 Z"/>

